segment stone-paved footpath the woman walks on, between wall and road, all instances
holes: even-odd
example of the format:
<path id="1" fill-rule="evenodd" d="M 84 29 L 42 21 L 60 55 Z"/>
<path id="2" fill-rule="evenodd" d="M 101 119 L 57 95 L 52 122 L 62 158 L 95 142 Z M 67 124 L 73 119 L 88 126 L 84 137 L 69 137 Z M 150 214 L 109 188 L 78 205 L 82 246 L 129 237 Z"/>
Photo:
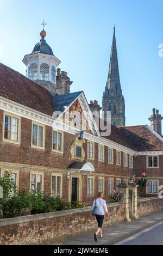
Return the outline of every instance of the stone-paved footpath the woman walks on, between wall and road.
<path id="1" fill-rule="evenodd" d="M 163 221 L 163 210 L 143 216 L 129 223 L 121 222 L 103 228 L 103 239 L 98 238 L 97 242 L 93 239 L 93 232 L 89 232 L 53 243 L 52 245 L 114 245 L 160 221 Z"/>

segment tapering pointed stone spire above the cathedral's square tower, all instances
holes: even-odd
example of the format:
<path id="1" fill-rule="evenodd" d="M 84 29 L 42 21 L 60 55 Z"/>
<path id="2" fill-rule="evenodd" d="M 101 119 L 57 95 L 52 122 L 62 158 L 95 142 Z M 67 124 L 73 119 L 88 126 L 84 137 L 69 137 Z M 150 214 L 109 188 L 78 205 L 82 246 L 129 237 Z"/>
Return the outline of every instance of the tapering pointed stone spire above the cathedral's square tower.
<path id="1" fill-rule="evenodd" d="M 122 95 L 120 74 L 119 74 L 119 69 L 118 69 L 115 26 L 114 26 L 114 33 L 113 33 L 113 38 L 112 38 L 112 45 L 111 45 L 107 87 L 108 87 L 108 89 L 111 89 L 111 92 L 114 93 L 114 96 Z"/>

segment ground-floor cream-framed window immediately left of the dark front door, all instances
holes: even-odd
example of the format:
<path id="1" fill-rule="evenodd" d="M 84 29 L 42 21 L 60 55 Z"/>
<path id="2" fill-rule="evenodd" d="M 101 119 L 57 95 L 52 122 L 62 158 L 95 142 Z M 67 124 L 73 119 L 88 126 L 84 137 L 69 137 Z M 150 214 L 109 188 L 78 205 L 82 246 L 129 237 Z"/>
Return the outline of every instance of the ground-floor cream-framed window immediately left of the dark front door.
<path id="1" fill-rule="evenodd" d="M 51 194 L 53 197 L 62 198 L 62 174 L 52 173 Z"/>

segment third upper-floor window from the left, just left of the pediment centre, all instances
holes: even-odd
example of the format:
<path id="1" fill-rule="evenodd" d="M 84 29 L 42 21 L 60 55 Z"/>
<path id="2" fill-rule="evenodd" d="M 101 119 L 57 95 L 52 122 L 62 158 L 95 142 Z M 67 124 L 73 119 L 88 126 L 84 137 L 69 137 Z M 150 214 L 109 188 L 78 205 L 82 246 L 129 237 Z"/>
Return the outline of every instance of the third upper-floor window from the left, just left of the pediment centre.
<path id="1" fill-rule="evenodd" d="M 63 153 L 64 152 L 64 136 L 63 132 L 53 130 L 53 151 Z"/>

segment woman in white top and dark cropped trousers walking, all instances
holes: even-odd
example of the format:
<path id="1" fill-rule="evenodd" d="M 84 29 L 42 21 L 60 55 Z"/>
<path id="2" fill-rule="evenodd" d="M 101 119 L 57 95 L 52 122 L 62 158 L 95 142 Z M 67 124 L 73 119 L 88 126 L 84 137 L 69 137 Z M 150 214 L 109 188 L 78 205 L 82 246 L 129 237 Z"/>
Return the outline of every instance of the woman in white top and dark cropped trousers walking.
<path id="1" fill-rule="evenodd" d="M 94 214 L 96 214 L 96 220 L 98 223 L 98 228 L 96 233 L 94 234 L 94 239 L 95 241 L 97 241 L 97 235 L 98 233 L 100 233 L 100 238 L 103 238 L 103 234 L 102 234 L 102 225 L 103 225 L 103 220 L 104 220 L 104 216 L 105 216 L 105 212 L 106 212 L 106 216 L 109 217 L 108 214 L 108 209 L 106 206 L 106 201 L 103 199 L 103 193 L 102 192 L 98 192 L 97 194 L 98 198 L 96 198 L 93 201 L 93 212 L 95 211 Z"/>

